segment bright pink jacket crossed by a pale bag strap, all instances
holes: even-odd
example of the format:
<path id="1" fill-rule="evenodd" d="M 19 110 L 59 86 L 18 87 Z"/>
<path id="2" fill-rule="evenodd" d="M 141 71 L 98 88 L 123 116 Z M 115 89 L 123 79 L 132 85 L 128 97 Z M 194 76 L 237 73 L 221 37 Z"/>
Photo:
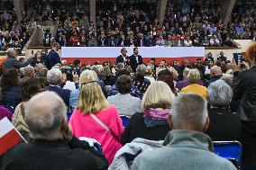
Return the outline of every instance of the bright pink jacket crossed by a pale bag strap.
<path id="1" fill-rule="evenodd" d="M 115 153 L 122 148 L 121 135 L 123 133 L 122 120 L 114 106 L 110 106 L 100 112 L 96 117 L 112 130 L 114 137 L 99 125 L 90 115 L 82 115 L 80 111 L 75 110 L 70 118 L 69 124 L 75 137 L 87 137 L 96 139 L 101 143 L 105 157 L 110 165 L 114 159 Z"/>

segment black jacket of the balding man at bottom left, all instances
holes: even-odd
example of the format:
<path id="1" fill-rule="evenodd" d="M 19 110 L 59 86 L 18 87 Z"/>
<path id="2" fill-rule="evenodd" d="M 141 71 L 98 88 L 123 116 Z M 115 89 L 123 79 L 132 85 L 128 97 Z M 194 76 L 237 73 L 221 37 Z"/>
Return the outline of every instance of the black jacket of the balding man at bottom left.
<path id="1" fill-rule="evenodd" d="M 86 141 L 35 140 L 5 153 L 3 170 L 105 170 L 107 160 Z"/>

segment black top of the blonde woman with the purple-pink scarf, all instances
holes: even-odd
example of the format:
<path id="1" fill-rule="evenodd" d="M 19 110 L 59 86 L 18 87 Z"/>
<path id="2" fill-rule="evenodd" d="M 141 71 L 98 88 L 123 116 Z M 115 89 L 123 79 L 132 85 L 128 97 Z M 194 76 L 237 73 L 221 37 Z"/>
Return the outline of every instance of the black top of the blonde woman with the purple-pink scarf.
<path id="1" fill-rule="evenodd" d="M 136 138 L 163 140 L 168 132 L 168 124 L 147 128 L 144 123 L 143 113 L 137 112 L 133 114 L 122 134 L 122 144 L 130 143 Z"/>

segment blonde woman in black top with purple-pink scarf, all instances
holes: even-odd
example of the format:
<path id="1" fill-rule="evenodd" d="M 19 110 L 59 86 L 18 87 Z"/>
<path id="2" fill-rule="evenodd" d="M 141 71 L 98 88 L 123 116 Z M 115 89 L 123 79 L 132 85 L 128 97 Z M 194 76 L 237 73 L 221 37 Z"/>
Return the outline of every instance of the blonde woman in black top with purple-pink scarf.
<path id="1" fill-rule="evenodd" d="M 169 132 L 168 118 L 175 95 L 169 85 L 153 82 L 142 98 L 142 111 L 133 114 L 122 134 L 122 144 L 133 139 L 162 140 Z"/>

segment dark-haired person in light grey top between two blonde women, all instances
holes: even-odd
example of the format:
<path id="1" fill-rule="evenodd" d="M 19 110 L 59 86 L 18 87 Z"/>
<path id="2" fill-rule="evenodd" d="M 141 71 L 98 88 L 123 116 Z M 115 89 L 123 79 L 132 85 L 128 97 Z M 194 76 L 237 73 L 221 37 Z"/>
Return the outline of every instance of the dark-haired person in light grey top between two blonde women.
<path id="1" fill-rule="evenodd" d="M 133 81 L 130 76 L 119 76 L 115 82 L 118 94 L 109 96 L 107 101 L 116 107 L 120 115 L 132 116 L 141 112 L 141 100 L 133 97 L 130 93 Z"/>

